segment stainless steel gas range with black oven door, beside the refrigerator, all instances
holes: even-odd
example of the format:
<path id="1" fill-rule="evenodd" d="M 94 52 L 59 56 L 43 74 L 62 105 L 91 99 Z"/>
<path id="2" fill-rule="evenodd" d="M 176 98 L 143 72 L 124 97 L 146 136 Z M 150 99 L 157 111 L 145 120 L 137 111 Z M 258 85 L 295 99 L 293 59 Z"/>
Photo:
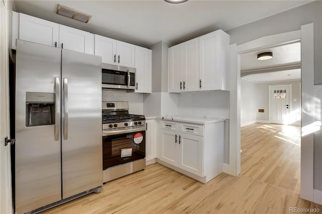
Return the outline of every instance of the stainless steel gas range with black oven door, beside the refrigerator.
<path id="1" fill-rule="evenodd" d="M 102 102 L 103 182 L 145 169 L 145 118 L 128 102 Z"/>

